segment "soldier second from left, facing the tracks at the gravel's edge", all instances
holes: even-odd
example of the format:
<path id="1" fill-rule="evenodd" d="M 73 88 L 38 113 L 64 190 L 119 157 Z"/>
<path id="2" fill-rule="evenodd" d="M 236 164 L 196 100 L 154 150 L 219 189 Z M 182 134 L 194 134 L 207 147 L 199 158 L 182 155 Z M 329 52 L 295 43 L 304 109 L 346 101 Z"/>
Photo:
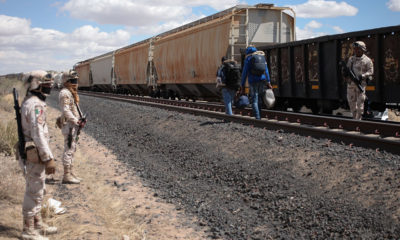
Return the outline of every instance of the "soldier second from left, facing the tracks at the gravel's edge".
<path id="1" fill-rule="evenodd" d="M 79 96 L 78 96 L 78 75 L 75 71 L 70 71 L 63 75 L 64 88 L 59 94 L 59 105 L 61 117 L 57 119 L 57 126 L 61 128 L 64 135 L 64 153 L 62 157 L 64 165 L 64 184 L 79 184 L 81 179 L 72 172 L 74 153 L 78 134 L 83 128 L 85 121 L 80 116 Z"/>

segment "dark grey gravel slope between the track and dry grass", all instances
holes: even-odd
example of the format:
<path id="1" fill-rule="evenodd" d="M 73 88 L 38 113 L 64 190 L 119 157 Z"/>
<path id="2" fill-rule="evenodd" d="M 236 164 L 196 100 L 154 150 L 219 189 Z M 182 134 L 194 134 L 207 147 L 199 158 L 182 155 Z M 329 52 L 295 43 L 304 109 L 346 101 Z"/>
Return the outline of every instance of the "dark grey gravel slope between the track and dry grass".
<path id="1" fill-rule="evenodd" d="M 81 108 L 84 131 L 211 239 L 400 238 L 398 155 L 87 96 Z"/>

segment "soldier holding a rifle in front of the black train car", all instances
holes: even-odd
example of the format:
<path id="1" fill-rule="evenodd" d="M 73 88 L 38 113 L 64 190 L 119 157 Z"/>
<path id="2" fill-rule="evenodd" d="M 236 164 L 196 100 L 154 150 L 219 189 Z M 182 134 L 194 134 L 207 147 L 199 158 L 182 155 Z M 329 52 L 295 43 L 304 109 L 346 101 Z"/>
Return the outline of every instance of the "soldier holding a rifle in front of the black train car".
<path id="1" fill-rule="evenodd" d="M 367 47 L 364 42 L 357 41 L 352 44 L 354 55 L 347 62 L 347 67 L 354 72 L 361 83 L 361 91 L 357 84 L 347 78 L 347 101 L 349 103 L 350 112 L 354 119 L 361 120 L 364 113 L 364 102 L 366 99 L 365 88 L 367 79 L 374 74 L 374 65 L 369 57 L 364 53 Z"/>

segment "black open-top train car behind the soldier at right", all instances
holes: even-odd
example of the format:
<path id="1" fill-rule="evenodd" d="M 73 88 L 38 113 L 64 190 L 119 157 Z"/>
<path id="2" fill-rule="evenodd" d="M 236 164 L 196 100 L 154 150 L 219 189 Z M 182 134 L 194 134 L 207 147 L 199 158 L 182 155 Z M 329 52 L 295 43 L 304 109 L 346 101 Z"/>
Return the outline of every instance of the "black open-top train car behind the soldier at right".
<path id="1" fill-rule="evenodd" d="M 259 47 L 267 56 L 277 107 L 302 106 L 314 113 L 346 107 L 340 60 L 353 55 L 351 44 L 364 41 L 374 63 L 366 94 L 372 110 L 400 108 L 400 26 L 370 29 Z"/>

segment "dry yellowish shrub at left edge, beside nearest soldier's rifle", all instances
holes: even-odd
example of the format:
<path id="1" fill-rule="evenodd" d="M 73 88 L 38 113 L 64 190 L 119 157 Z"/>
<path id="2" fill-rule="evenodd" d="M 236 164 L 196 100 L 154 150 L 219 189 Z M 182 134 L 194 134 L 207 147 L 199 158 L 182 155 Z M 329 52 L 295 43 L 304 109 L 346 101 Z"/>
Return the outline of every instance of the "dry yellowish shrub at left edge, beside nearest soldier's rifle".
<path id="1" fill-rule="evenodd" d="M 14 146 L 18 142 L 17 122 L 0 122 L 0 136 L 0 152 L 8 156 L 14 155 Z"/>

